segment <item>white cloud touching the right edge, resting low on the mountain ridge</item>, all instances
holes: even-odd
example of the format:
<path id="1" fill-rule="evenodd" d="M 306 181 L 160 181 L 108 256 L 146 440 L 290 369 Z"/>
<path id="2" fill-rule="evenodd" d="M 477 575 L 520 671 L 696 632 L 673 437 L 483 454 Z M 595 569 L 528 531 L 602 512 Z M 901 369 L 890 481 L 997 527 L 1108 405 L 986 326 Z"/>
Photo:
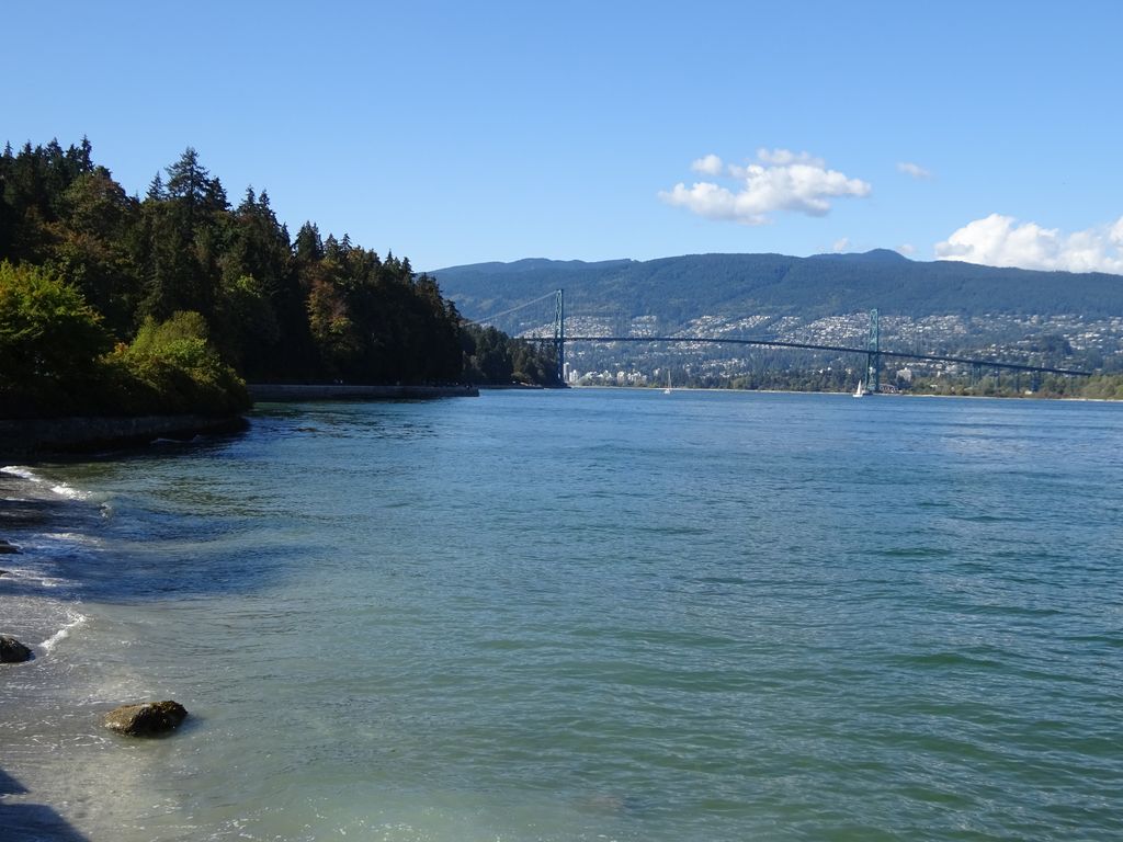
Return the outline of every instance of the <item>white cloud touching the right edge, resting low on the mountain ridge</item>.
<path id="1" fill-rule="evenodd" d="M 1123 217 L 1114 223 L 1063 234 L 1037 222 L 992 213 L 935 244 L 935 256 L 988 266 L 1123 274 Z"/>

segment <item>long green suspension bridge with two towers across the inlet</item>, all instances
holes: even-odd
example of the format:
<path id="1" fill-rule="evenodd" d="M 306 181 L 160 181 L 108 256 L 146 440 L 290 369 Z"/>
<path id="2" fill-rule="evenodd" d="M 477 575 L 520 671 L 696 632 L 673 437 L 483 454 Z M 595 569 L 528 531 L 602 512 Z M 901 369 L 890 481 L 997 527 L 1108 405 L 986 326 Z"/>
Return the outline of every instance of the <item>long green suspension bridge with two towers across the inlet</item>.
<path id="1" fill-rule="evenodd" d="M 865 347 L 850 347 L 843 345 L 825 345 L 818 342 L 796 342 L 783 339 L 752 339 L 752 338 L 731 338 L 731 337 L 704 337 L 704 336 L 577 336 L 577 335 L 566 335 L 565 330 L 565 291 L 556 290 L 546 295 L 541 295 L 537 299 L 517 304 L 513 308 L 503 310 L 499 313 L 493 313 L 486 319 L 472 319 L 466 320 L 468 323 L 473 324 L 489 324 L 493 320 L 509 315 L 511 313 L 518 312 L 526 308 L 533 306 L 544 301 L 553 300 L 554 302 L 554 319 L 553 324 L 546 330 L 541 331 L 537 336 L 524 337 L 532 339 L 535 341 L 550 342 L 555 348 L 556 354 L 556 365 L 557 365 L 557 378 L 558 382 L 564 382 L 565 372 L 565 359 L 566 359 L 566 344 L 567 342 L 632 342 L 632 344 L 709 344 L 709 345 L 725 345 L 725 346 L 755 346 L 763 348 L 780 348 L 791 350 L 812 350 L 812 351 L 830 351 L 834 354 L 853 354 L 865 357 L 865 375 L 864 383 L 868 391 L 878 392 L 880 391 L 880 379 L 882 379 L 882 360 L 884 358 L 891 359 L 915 359 L 925 360 L 932 363 L 950 363 L 956 365 L 969 365 L 971 366 L 973 374 L 976 378 L 980 375 L 983 369 L 989 368 L 995 370 L 1008 370 L 1019 374 L 1030 374 L 1033 377 L 1034 391 L 1039 387 L 1039 381 L 1041 375 L 1044 374 L 1059 374 L 1072 377 L 1088 377 L 1092 372 L 1084 372 L 1076 368 L 1060 368 L 1056 366 L 1046 365 L 1032 365 L 1030 363 L 1007 363 L 995 359 L 982 359 L 976 357 L 965 357 L 948 354 L 920 354 L 913 351 L 897 351 L 897 350 L 886 350 L 882 348 L 880 329 L 877 310 L 871 310 L 869 313 L 869 337 Z"/>

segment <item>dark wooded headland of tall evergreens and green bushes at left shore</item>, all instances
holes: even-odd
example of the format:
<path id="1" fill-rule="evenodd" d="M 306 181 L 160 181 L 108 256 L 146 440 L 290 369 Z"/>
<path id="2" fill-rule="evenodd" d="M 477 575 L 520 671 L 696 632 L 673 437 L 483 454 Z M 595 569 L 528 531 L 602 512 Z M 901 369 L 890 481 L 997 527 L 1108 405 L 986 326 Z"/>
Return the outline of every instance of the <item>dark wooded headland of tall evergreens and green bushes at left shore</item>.
<path id="1" fill-rule="evenodd" d="M 264 190 L 232 204 L 190 147 L 141 199 L 85 139 L 7 146 L 0 268 L 0 414 L 226 412 L 245 403 L 244 390 L 227 394 L 230 368 L 375 384 L 541 368 L 505 337 L 465 329 L 408 258 L 312 222 L 292 237 Z"/>

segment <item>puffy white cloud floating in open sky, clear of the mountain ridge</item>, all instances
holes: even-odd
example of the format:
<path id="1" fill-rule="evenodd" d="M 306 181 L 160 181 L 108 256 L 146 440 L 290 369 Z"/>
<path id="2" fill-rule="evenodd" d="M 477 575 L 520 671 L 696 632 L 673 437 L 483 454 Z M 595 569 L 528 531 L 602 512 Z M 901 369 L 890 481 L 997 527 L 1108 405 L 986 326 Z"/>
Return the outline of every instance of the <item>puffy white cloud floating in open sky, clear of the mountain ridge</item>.
<path id="1" fill-rule="evenodd" d="M 775 211 L 822 217 L 831 210 L 828 200 L 866 196 L 871 190 L 860 179 L 828 170 L 825 162 L 805 152 L 758 149 L 757 159 L 760 163 L 727 166 L 716 155 L 706 155 L 695 161 L 692 168 L 713 177 L 723 176 L 731 187 L 714 182 L 695 182 L 687 187 L 679 182 L 669 191 L 660 191 L 659 199 L 706 219 L 758 226 L 768 222 L 768 214 Z"/>

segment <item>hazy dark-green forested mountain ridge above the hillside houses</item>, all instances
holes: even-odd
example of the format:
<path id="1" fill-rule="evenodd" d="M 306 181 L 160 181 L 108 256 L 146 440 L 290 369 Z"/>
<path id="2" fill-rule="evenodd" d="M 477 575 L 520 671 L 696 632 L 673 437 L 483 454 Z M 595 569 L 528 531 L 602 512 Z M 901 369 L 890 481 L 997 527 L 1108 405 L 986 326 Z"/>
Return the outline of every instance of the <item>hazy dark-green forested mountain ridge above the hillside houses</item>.
<path id="1" fill-rule="evenodd" d="M 477 318 L 563 287 L 574 312 L 651 315 L 668 327 L 701 315 L 756 313 L 813 320 L 877 308 L 883 314 L 1123 314 L 1123 277 L 1031 272 L 896 251 L 788 257 L 712 254 L 602 263 L 518 260 L 436 269 L 446 294 Z"/>

